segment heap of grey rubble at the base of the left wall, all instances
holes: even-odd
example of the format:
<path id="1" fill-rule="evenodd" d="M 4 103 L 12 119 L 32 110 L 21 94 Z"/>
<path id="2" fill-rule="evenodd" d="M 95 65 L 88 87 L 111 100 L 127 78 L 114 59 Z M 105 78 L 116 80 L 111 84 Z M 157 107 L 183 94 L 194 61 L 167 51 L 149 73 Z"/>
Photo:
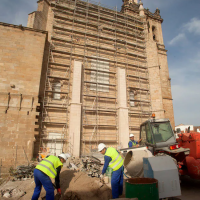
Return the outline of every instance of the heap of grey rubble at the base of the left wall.
<path id="1" fill-rule="evenodd" d="M 29 178 L 33 178 L 33 170 L 35 169 L 35 165 L 20 165 L 16 169 L 10 172 L 11 176 L 14 177 L 14 181 L 16 180 L 26 180 Z"/>

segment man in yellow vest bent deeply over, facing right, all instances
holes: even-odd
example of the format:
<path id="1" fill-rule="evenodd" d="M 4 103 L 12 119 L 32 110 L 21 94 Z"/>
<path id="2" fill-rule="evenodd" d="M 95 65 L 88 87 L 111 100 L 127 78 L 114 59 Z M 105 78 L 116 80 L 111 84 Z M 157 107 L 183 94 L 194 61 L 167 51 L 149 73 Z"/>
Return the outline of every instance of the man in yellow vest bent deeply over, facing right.
<path id="1" fill-rule="evenodd" d="M 68 156 L 64 153 L 57 156 L 47 156 L 34 169 L 35 190 L 31 200 L 38 200 L 42 185 L 46 190 L 46 200 L 54 200 L 54 187 L 51 178 L 55 178 L 57 193 L 61 195 L 60 171 Z"/>

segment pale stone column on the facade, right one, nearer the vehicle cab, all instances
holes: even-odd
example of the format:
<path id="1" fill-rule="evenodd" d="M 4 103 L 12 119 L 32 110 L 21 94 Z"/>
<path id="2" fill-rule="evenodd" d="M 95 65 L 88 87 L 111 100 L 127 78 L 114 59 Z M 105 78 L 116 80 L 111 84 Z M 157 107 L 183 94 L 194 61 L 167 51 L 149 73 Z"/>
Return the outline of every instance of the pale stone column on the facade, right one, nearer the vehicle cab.
<path id="1" fill-rule="evenodd" d="M 129 121 L 126 94 L 126 71 L 118 67 L 118 127 L 119 145 L 121 148 L 128 147 L 129 141 Z"/>

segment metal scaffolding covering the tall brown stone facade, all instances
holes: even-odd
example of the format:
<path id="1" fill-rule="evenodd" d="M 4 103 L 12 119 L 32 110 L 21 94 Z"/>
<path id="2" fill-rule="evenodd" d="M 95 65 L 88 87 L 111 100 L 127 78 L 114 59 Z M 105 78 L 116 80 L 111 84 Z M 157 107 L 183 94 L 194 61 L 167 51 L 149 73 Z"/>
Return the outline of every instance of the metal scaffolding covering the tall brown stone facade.
<path id="1" fill-rule="evenodd" d="M 150 113 L 145 25 L 139 15 L 129 16 L 89 0 L 59 0 L 51 2 L 51 8 L 41 145 L 52 140 L 49 133 L 61 133 L 54 140 L 62 142 L 62 150 L 70 149 L 68 105 L 73 60 L 77 59 L 83 63 L 81 152 L 90 152 L 100 142 L 116 147 L 118 67 L 126 69 L 130 132 L 138 130 Z M 130 99 L 131 91 L 134 99 Z"/>

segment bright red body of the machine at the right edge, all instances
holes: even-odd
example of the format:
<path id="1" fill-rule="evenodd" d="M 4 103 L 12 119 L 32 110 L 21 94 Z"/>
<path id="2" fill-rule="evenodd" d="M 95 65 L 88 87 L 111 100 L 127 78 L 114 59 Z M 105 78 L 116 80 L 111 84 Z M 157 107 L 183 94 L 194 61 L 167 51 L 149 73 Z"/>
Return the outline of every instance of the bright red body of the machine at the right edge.
<path id="1" fill-rule="evenodd" d="M 200 179 L 200 133 L 181 133 L 177 142 L 181 147 L 190 149 L 190 154 L 179 165 L 180 174 Z"/>

